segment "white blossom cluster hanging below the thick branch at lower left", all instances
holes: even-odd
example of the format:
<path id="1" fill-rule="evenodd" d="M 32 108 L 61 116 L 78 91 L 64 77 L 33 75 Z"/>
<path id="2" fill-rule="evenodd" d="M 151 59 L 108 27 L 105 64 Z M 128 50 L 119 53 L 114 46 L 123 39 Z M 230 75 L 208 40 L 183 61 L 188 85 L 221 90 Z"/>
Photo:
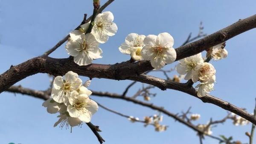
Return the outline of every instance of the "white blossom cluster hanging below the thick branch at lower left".
<path id="1" fill-rule="evenodd" d="M 56 127 L 81 126 L 82 122 L 88 123 L 92 115 L 98 111 L 98 104 L 91 100 L 92 94 L 87 86 L 90 80 L 82 85 L 82 80 L 75 72 L 67 72 L 64 78 L 57 76 L 53 81 L 52 98 L 43 103 L 47 112 L 53 114 L 59 112 L 59 120 L 54 124 Z"/>

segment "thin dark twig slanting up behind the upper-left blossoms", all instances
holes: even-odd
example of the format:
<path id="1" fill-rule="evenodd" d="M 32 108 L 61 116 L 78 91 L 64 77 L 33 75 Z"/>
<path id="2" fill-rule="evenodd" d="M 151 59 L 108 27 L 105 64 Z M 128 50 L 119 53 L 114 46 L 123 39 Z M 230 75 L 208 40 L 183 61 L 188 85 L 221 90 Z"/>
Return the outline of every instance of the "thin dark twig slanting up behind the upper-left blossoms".
<path id="1" fill-rule="evenodd" d="M 108 0 L 102 7 L 99 8 L 99 13 L 102 12 L 108 5 L 110 5 L 114 0 Z M 90 16 L 87 20 L 86 19 L 87 14 L 84 14 L 84 19 L 81 22 L 81 24 L 79 26 L 76 27 L 76 29 L 79 29 L 80 26 L 84 23 L 89 22 L 92 19 L 92 16 Z M 75 30 L 76 30 L 75 29 Z M 44 52 L 44 55 L 50 55 L 52 52 L 54 52 L 56 49 L 58 49 L 58 47 L 60 47 L 63 43 L 65 43 L 65 41 L 67 41 L 67 39 L 70 37 L 70 35 L 67 35 L 66 37 L 64 37 L 62 40 L 60 40 L 55 46 L 53 46 L 51 49 L 49 49 L 47 52 Z"/>

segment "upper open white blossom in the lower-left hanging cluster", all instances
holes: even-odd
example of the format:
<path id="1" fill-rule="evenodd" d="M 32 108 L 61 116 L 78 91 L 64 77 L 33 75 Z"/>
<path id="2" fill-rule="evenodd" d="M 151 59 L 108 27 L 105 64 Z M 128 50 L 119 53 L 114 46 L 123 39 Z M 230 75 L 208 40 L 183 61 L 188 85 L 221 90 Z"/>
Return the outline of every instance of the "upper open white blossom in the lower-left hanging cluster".
<path id="1" fill-rule="evenodd" d="M 54 78 L 52 86 L 52 98 L 58 103 L 65 103 L 71 92 L 76 91 L 82 84 L 82 80 L 77 73 L 69 71 L 64 78 L 57 76 Z"/>

